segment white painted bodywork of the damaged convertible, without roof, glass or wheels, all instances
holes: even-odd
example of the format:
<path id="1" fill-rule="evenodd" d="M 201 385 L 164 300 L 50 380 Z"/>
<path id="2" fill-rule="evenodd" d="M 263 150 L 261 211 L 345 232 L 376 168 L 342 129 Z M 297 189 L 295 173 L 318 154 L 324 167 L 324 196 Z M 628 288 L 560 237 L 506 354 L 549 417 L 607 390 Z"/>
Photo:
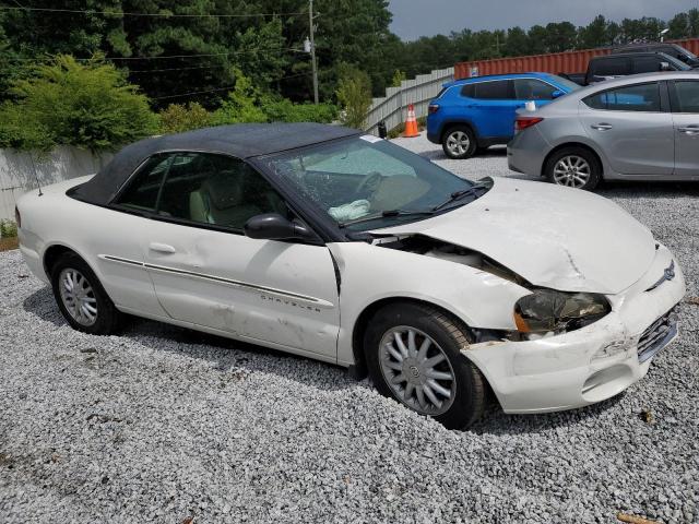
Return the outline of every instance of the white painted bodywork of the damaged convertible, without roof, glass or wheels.
<path id="1" fill-rule="evenodd" d="M 48 282 L 46 250 L 70 248 L 118 309 L 144 318 L 352 366 L 355 325 L 377 301 L 422 300 L 473 329 L 508 332 L 516 330 L 516 301 L 530 293 L 465 261 L 365 241 L 254 240 L 64 194 L 85 180 L 20 200 L 27 265 Z M 461 209 L 375 231 L 430 237 L 481 252 L 533 285 L 607 296 L 612 312 L 581 330 L 463 349 L 509 413 L 583 406 L 642 378 L 650 360 L 639 364 L 638 337 L 685 293 L 679 267 L 674 279 L 647 290 L 672 253 L 618 206 L 583 191 L 534 183 L 497 179 L 488 193 Z M 599 358 L 608 347 L 614 350 Z M 591 377 L 602 371 L 608 374 L 591 386 Z"/>

